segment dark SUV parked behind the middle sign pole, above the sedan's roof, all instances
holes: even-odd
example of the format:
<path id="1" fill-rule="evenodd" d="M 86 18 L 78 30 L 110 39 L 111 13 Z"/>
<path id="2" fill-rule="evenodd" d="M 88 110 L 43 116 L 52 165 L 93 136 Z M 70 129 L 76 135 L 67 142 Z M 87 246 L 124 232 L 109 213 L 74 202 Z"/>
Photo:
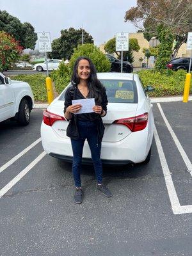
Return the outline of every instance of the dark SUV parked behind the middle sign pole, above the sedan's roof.
<path id="1" fill-rule="evenodd" d="M 111 62 L 110 72 L 121 72 L 121 61 L 116 59 L 110 54 L 106 54 L 106 57 Z M 133 70 L 132 64 L 129 61 L 123 61 L 123 72 L 131 73 Z"/>

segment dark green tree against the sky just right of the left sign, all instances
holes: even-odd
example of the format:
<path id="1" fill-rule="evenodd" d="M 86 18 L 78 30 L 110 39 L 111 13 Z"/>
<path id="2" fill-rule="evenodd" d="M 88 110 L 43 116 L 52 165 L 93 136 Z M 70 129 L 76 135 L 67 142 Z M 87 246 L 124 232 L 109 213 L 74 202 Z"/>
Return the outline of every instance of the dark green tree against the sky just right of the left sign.
<path id="1" fill-rule="evenodd" d="M 52 41 L 52 52 L 49 58 L 70 59 L 77 45 L 82 44 L 82 29 L 64 29 L 61 30 L 60 38 Z M 93 38 L 83 29 L 83 44 L 93 44 Z"/>

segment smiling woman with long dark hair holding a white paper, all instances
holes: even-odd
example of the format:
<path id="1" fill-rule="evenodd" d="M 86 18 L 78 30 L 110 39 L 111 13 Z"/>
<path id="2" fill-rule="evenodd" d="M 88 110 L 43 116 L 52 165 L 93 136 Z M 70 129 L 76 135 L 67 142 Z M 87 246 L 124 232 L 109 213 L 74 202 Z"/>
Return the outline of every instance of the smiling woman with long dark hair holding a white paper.
<path id="1" fill-rule="evenodd" d="M 81 109 L 81 105 L 72 105 L 72 100 L 88 98 L 95 98 L 93 113 L 74 115 Z M 72 74 L 72 86 L 65 93 L 64 108 L 65 118 L 70 120 L 67 136 L 70 137 L 74 155 L 72 172 L 76 186 L 74 200 L 77 204 L 83 202 L 80 172 L 85 139 L 87 139 L 92 153 L 97 189 L 107 197 L 112 196 L 109 189 L 102 184 L 102 162 L 100 160 L 101 141 L 104 134 L 102 117 L 107 113 L 107 104 L 106 89 L 97 79 L 96 69 L 92 61 L 86 57 L 77 58 Z"/>

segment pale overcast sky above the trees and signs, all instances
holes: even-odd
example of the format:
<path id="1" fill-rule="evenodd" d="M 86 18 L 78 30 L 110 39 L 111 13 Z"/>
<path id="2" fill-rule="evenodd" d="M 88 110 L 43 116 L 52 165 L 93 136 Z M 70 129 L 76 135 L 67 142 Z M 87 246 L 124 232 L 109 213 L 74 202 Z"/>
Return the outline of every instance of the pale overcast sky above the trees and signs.
<path id="1" fill-rule="evenodd" d="M 79 29 L 83 24 L 98 46 L 117 32 L 136 32 L 124 22 L 132 6 L 136 0 L 0 0 L 0 10 L 31 23 L 35 32 L 50 32 L 51 40 L 60 37 L 61 29 Z"/>

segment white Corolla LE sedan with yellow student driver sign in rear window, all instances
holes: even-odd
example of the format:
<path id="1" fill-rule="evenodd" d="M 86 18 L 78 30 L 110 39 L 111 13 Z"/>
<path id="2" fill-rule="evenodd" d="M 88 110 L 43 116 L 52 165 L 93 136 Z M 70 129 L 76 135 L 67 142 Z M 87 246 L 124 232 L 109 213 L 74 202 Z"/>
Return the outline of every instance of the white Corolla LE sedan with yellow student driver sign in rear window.
<path id="1" fill-rule="evenodd" d="M 97 77 L 106 87 L 109 101 L 108 113 L 102 118 L 105 126 L 100 156 L 102 163 L 148 163 L 154 116 L 147 91 L 154 88 L 144 88 L 138 74 L 98 73 Z M 41 137 L 49 156 L 72 161 L 70 138 L 66 135 L 68 121 L 63 115 L 67 88 L 44 111 Z M 83 148 L 83 162 L 92 163 L 87 141 Z"/>

